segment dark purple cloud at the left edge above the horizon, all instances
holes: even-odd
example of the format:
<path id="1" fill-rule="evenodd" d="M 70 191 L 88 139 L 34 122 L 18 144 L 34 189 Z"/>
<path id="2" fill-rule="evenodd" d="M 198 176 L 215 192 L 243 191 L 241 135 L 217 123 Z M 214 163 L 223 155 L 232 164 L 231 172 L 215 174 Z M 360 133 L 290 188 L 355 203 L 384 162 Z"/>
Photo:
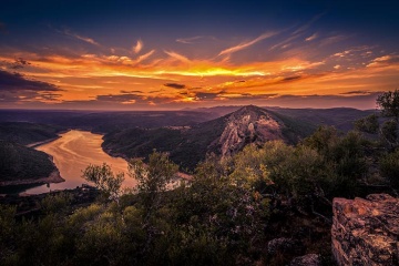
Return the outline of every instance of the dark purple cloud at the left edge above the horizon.
<path id="1" fill-rule="evenodd" d="M 19 73 L 0 70 L 0 91 L 61 91 L 61 89 L 47 82 L 28 80 Z"/>

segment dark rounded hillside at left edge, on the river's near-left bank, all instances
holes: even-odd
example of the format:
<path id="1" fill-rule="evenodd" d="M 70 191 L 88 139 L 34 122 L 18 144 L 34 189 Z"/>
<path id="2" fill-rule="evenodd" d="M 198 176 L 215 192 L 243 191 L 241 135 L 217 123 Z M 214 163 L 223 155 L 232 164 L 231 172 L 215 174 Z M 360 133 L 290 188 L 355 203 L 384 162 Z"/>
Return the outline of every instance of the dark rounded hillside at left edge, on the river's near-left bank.
<path id="1" fill-rule="evenodd" d="M 41 182 L 54 172 L 57 167 L 48 154 L 0 140 L 0 184 Z"/>

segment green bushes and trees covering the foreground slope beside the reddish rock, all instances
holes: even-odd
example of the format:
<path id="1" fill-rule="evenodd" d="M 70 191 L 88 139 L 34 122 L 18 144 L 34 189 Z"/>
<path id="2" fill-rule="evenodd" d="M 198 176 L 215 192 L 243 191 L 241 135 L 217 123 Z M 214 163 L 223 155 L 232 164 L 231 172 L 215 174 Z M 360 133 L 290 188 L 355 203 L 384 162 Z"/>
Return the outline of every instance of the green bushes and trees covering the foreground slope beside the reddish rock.
<path id="1" fill-rule="evenodd" d="M 392 103 L 380 104 L 385 119 L 366 117 L 347 134 L 319 127 L 296 146 L 209 155 L 174 190 L 178 166 L 165 153 L 129 162 L 134 191 L 122 192 L 124 175 L 106 164 L 90 165 L 83 177 L 102 192 L 94 204 L 73 208 L 68 194 L 49 195 L 29 219 L 0 207 L 0 264 L 286 265 L 309 253 L 332 264 L 332 198 L 399 188 L 398 115 L 387 112 L 399 109 L 399 93 L 389 93 L 379 98 Z M 269 248 L 279 237 L 291 244 Z"/>

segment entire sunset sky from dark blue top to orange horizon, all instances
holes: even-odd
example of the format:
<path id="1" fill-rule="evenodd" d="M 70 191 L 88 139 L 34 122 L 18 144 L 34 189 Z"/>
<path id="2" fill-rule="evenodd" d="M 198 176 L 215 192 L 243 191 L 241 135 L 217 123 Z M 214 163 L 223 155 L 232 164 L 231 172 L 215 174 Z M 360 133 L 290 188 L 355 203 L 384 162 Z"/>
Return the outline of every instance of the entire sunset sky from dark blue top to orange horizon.
<path id="1" fill-rule="evenodd" d="M 1 0 L 0 109 L 375 109 L 399 1 Z"/>

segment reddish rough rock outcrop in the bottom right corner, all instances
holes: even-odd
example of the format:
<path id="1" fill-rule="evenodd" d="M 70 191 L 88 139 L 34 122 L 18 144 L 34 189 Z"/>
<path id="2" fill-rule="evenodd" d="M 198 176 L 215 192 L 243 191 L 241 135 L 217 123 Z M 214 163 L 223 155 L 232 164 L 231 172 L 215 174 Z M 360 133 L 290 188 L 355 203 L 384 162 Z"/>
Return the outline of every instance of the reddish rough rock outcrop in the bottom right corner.
<path id="1" fill-rule="evenodd" d="M 334 200 L 332 254 L 338 265 L 399 265 L 399 200 L 366 198 Z"/>

